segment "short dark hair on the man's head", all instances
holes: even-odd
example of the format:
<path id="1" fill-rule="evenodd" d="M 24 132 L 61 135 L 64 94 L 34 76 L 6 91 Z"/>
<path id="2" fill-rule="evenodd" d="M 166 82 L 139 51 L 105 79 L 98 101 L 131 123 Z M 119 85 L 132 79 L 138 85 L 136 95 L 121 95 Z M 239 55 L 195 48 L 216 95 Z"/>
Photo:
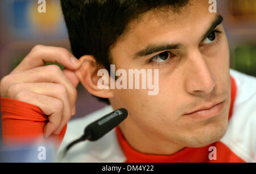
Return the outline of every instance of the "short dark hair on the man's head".
<path id="1" fill-rule="evenodd" d="M 93 55 L 110 72 L 110 50 L 131 20 L 152 9 L 179 10 L 189 0 L 61 0 L 71 49 L 75 57 Z M 108 99 L 101 99 L 109 104 Z"/>

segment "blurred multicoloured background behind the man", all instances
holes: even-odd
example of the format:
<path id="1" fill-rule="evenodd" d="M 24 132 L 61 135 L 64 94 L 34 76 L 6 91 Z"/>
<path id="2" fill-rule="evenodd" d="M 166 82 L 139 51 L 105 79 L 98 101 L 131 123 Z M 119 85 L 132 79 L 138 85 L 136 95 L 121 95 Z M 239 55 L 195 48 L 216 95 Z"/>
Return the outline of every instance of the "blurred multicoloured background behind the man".
<path id="1" fill-rule="evenodd" d="M 39 13 L 38 6 L 38 0 L 0 1 L 0 79 L 9 74 L 36 44 L 70 50 L 59 1 L 46 0 L 46 13 Z M 230 66 L 256 77 L 256 1 L 221 0 L 217 1 L 217 6 L 224 16 Z M 76 115 L 72 119 L 105 106 L 81 84 L 77 92 Z"/>

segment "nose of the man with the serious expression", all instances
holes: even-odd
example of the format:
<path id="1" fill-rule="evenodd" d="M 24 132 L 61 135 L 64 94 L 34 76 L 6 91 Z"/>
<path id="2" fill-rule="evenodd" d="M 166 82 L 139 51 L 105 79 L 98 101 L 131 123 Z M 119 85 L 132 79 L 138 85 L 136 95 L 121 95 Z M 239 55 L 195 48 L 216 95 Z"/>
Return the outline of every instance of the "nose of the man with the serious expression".
<path id="1" fill-rule="evenodd" d="M 210 72 L 205 58 L 199 50 L 191 52 L 188 57 L 185 80 L 187 92 L 192 95 L 210 94 L 216 86 L 216 80 Z"/>

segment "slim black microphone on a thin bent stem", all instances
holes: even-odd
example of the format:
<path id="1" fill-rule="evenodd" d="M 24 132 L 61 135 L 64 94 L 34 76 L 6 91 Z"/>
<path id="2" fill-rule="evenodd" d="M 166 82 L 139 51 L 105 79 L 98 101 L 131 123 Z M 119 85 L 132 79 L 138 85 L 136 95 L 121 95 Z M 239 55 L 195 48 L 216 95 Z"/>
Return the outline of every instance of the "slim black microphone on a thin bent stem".
<path id="1" fill-rule="evenodd" d="M 128 112 L 125 108 L 117 109 L 104 117 L 92 122 L 88 125 L 84 130 L 84 135 L 79 139 L 76 139 L 72 143 L 70 143 L 64 151 L 64 156 L 67 154 L 69 148 L 71 148 L 76 143 L 89 140 L 89 141 L 97 141 L 101 137 L 103 137 L 110 130 L 114 129 L 117 125 L 119 125 L 125 118 L 127 118 Z"/>

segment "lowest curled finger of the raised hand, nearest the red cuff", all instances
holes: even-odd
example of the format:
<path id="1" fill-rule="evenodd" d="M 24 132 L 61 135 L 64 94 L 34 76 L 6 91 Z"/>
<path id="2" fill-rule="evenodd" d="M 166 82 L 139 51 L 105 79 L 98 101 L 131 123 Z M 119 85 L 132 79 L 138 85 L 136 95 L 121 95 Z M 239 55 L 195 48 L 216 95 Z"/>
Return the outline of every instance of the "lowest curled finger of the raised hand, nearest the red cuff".
<path id="1" fill-rule="evenodd" d="M 61 100 L 26 90 L 19 91 L 15 95 L 15 100 L 36 105 L 48 115 L 48 122 L 44 126 L 44 137 L 49 137 L 59 127 L 64 107 Z"/>

